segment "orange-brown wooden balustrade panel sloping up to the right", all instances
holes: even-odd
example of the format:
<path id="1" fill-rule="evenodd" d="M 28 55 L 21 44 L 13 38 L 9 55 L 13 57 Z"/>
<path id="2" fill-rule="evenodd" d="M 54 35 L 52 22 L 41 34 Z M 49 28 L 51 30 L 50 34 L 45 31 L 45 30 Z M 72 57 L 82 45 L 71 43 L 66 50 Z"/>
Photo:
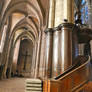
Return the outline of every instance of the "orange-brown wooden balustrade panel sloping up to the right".
<path id="1" fill-rule="evenodd" d="M 89 60 L 57 80 L 44 80 L 43 92 L 76 92 L 88 79 Z"/>

